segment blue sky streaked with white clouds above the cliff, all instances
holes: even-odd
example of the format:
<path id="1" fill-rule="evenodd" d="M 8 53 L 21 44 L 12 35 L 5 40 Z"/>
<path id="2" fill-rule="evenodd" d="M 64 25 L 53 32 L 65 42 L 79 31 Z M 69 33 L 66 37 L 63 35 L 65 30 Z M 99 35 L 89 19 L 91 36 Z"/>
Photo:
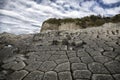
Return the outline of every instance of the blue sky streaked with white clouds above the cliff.
<path id="1" fill-rule="evenodd" d="M 0 0 L 0 33 L 38 33 L 49 18 L 116 14 L 120 0 Z"/>

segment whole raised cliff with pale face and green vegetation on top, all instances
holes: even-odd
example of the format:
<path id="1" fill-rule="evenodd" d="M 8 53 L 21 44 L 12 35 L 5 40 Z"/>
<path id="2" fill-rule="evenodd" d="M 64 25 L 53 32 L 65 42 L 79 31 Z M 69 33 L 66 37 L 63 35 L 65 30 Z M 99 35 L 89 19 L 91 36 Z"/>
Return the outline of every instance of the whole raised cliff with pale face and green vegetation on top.
<path id="1" fill-rule="evenodd" d="M 102 26 L 106 23 L 118 23 L 118 22 L 120 22 L 120 14 L 115 15 L 113 17 L 101 17 L 91 15 L 84 18 L 65 18 L 65 19 L 50 18 L 43 22 L 40 32 L 46 32 L 50 30 L 75 31 L 78 29 Z"/>

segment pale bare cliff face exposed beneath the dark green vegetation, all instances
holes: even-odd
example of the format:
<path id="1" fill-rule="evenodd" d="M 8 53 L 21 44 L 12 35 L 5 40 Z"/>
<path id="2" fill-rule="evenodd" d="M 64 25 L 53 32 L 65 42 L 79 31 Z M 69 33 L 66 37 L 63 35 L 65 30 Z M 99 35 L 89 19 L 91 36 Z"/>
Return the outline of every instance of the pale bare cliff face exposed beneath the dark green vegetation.
<path id="1" fill-rule="evenodd" d="M 105 23 L 99 27 L 115 27 L 115 26 L 120 26 L 120 23 Z M 93 26 L 89 26 L 89 27 L 93 27 Z M 88 27 L 88 28 L 89 28 Z M 96 26 L 94 26 L 96 27 Z M 47 23 L 44 22 L 41 28 L 40 32 L 47 32 L 47 31 L 51 31 L 51 30 L 57 30 L 57 31 L 62 31 L 62 30 L 68 30 L 68 31 L 75 31 L 75 30 L 79 30 L 79 29 L 83 29 L 82 26 L 76 24 L 75 22 L 67 22 L 67 23 L 61 23 L 60 25 L 58 24 L 54 24 L 54 23 Z"/>

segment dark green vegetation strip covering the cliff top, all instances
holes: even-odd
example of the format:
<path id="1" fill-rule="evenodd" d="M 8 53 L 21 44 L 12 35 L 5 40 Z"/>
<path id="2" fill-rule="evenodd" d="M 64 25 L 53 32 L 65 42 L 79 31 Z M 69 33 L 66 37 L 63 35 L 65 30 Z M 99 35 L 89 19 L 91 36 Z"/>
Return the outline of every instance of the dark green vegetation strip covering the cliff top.
<path id="1" fill-rule="evenodd" d="M 65 18 L 65 19 L 56 19 L 56 18 L 51 18 L 46 20 L 44 23 L 50 23 L 50 24 L 56 24 L 56 25 L 61 25 L 61 23 L 75 23 L 76 25 L 79 25 L 81 28 L 86 28 L 86 27 L 92 27 L 92 26 L 101 26 L 104 23 L 112 22 L 112 23 L 117 23 L 120 22 L 120 14 L 117 14 L 113 17 L 102 17 L 100 15 L 95 16 L 86 16 L 84 18 Z M 43 24 L 44 24 L 43 23 Z"/>

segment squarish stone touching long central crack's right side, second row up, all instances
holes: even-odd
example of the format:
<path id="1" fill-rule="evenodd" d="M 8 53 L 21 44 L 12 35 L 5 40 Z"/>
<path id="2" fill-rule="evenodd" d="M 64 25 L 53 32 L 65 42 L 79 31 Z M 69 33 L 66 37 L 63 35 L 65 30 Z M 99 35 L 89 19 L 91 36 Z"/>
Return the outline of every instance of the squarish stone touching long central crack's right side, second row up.
<path id="1" fill-rule="evenodd" d="M 72 63 L 72 70 L 87 70 L 87 65 L 84 63 Z"/>

